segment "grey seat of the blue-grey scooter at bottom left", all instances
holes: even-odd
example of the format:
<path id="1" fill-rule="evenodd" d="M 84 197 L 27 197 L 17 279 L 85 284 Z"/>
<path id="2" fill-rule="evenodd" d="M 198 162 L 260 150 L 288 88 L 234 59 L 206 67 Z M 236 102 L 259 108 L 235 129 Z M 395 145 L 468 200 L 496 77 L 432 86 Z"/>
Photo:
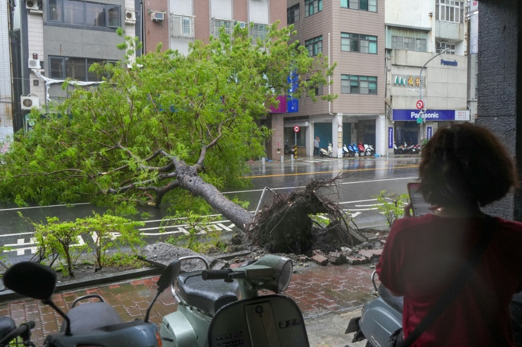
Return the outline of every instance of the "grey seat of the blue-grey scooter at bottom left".
<path id="1" fill-rule="evenodd" d="M 75 306 L 67 312 L 70 319 L 70 331 L 79 333 L 93 329 L 123 323 L 122 317 L 116 310 L 105 302 L 89 302 Z M 60 331 L 65 331 L 66 322 L 62 324 Z"/>

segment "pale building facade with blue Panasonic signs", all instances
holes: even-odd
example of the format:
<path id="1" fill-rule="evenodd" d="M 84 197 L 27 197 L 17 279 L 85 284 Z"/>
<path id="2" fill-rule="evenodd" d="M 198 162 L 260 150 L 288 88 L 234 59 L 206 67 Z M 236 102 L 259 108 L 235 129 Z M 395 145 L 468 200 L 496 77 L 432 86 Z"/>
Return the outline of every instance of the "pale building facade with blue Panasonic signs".
<path id="1" fill-rule="evenodd" d="M 386 1 L 388 152 L 394 142 L 421 143 L 439 126 L 470 121 L 476 113 L 468 102 L 467 6 L 455 0 Z"/>

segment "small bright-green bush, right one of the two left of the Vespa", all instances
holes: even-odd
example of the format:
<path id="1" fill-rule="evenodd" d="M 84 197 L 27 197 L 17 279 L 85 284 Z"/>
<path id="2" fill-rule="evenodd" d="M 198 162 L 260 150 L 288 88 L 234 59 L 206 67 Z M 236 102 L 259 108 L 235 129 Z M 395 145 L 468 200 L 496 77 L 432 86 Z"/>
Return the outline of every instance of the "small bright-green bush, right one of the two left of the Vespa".
<path id="1" fill-rule="evenodd" d="M 96 258 L 97 269 L 101 270 L 108 262 L 107 251 L 112 248 L 121 249 L 128 246 L 131 250 L 136 250 L 136 246 L 143 245 L 137 227 L 143 227 L 144 222 L 132 221 L 127 218 L 104 214 L 100 216 L 94 213 L 93 217 L 77 219 L 77 226 L 81 226 L 94 241 L 92 253 Z"/>

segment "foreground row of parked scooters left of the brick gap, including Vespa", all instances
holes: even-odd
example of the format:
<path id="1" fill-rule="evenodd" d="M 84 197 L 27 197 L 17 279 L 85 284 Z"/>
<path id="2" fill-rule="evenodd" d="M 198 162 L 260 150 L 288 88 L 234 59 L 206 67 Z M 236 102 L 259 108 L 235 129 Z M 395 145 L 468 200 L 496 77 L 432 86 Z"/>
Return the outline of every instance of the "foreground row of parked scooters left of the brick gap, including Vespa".
<path id="1" fill-rule="evenodd" d="M 199 259 L 206 269 L 180 274 L 181 261 L 188 259 Z M 5 272 L 3 280 L 6 288 L 41 300 L 64 318 L 61 331 L 45 338 L 46 347 L 309 346 L 299 307 L 280 295 L 292 277 L 290 259 L 266 255 L 233 269 L 209 268 L 201 256 L 173 261 L 158 280 L 157 294 L 145 318 L 131 322 L 124 322 L 99 295 L 78 298 L 65 314 L 51 300 L 56 272 L 47 266 L 17 263 Z M 158 296 L 168 287 L 178 306 L 175 312 L 163 317 L 158 330 L 149 322 L 149 315 Z M 258 296 L 258 291 L 265 289 L 276 294 Z M 76 305 L 90 298 L 100 301 Z M 17 336 L 25 345 L 34 346 L 30 341 L 32 328 L 34 322 L 16 328 L 13 319 L 0 317 L 0 347 Z"/>

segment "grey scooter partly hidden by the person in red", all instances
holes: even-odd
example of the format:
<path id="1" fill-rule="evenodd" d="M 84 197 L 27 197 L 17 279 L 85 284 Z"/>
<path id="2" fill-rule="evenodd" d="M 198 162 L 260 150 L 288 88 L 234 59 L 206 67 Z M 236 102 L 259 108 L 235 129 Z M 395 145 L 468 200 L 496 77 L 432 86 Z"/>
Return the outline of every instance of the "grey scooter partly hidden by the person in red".
<path id="1" fill-rule="evenodd" d="M 352 342 L 368 340 L 366 346 L 387 346 L 389 337 L 402 327 L 402 306 L 404 296 L 394 296 L 382 284 L 375 284 L 376 271 L 372 272 L 372 282 L 377 296 L 363 305 L 361 317 L 350 319 L 345 333 L 354 332 Z"/>

